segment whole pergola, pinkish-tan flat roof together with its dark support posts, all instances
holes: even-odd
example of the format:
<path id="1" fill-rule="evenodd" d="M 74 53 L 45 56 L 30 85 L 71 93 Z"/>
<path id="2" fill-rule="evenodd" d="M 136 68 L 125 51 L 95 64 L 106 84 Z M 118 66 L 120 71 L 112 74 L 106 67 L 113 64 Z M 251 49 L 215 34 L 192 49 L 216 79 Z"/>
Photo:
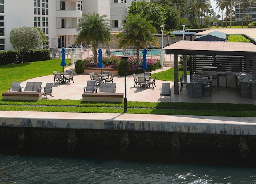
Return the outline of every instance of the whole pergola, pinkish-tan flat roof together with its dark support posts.
<path id="1" fill-rule="evenodd" d="M 182 40 L 163 48 L 166 54 L 174 54 L 174 94 L 179 94 L 178 55 L 184 55 L 184 75 L 186 75 L 186 55 L 245 56 L 246 71 L 252 70 L 252 99 L 256 99 L 256 45 L 238 42 L 202 42 Z M 250 59 L 252 65 L 250 66 Z M 252 68 L 250 68 L 252 67 Z"/>

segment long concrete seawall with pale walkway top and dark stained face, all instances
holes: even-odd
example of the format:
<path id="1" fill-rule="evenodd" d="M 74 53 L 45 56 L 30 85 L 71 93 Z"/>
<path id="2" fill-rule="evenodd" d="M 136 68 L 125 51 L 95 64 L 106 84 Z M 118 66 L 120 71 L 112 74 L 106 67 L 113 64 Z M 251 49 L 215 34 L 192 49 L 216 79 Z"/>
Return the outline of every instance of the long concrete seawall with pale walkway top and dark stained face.
<path id="1" fill-rule="evenodd" d="M 248 158 L 256 143 L 254 117 L 0 111 L 0 121 L 0 145 L 7 141 L 20 148 L 33 140 L 62 143 L 68 150 L 117 146 L 124 153 L 165 147 L 179 156 L 185 147 L 211 146 L 234 148 Z"/>

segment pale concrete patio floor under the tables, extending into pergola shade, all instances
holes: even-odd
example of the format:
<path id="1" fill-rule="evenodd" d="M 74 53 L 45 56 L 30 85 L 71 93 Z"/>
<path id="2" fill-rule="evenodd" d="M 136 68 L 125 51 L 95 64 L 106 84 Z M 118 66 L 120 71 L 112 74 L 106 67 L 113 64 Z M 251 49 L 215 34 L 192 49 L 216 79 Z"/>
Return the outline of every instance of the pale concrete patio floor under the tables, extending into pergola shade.
<path id="1" fill-rule="evenodd" d="M 65 68 L 74 70 L 74 65 Z M 160 71 L 165 71 L 170 69 L 169 67 L 164 67 L 152 73 L 158 73 Z M 71 84 L 59 84 L 53 85 L 52 95 L 54 97 L 48 96 L 49 100 L 56 99 L 71 99 L 71 100 L 82 100 L 82 93 L 84 93 L 84 87 L 87 84 L 87 80 L 90 80 L 90 76 L 86 74 L 77 75 L 74 74 L 74 83 Z M 47 82 L 53 82 L 53 75 L 48 75 L 44 77 L 37 77 L 34 79 L 29 79 L 21 83 L 21 86 L 26 86 L 28 81 L 40 81 L 42 82 L 42 87 L 46 85 Z M 116 82 L 117 93 L 124 93 L 124 77 L 114 76 L 114 82 Z M 242 98 L 239 96 L 238 89 L 236 88 L 226 88 L 226 87 L 212 87 L 212 97 L 210 93 L 205 93 L 205 97 L 202 99 L 188 98 L 186 94 L 186 89 L 182 91 L 181 94 L 174 94 L 174 82 L 172 81 L 160 81 L 156 77 L 156 87 L 152 85 L 148 89 L 134 87 L 134 79 L 132 75 L 127 76 L 127 100 L 128 101 L 144 101 L 144 102 L 170 102 L 168 96 L 164 96 L 160 100 L 159 89 L 162 83 L 167 82 L 171 84 L 171 102 L 209 102 L 209 103 L 243 103 L 243 104 L 255 104 L 255 101 L 250 98 Z M 43 97 L 44 98 L 44 97 Z"/>

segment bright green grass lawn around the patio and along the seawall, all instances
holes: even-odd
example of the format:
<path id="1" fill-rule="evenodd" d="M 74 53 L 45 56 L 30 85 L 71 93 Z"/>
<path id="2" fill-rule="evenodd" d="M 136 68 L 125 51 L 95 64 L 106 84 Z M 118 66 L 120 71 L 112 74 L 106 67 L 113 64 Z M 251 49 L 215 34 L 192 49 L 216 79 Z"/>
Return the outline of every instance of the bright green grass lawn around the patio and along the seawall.
<path id="1" fill-rule="evenodd" d="M 70 59 L 66 60 L 70 63 Z M 0 93 L 8 91 L 13 81 L 25 81 L 34 77 L 52 75 L 52 71 L 61 72 L 61 59 L 40 62 L 19 63 L 0 66 Z M 156 74 L 157 78 L 165 81 L 174 80 L 174 69 Z M 182 74 L 179 68 L 179 76 Z M 91 113 L 122 113 L 124 103 L 83 102 L 82 100 L 45 100 L 40 101 L 8 101 L 0 96 L 2 111 L 50 111 L 50 112 L 91 112 Z M 239 107 L 239 108 L 238 108 Z M 129 102 L 128 113 L 166 114 L 166 115 L 211 115 L 211 116 L 241 116 L 255 117 L 256 106 L 248 104 L 220 103 L 150 103 Z"/>

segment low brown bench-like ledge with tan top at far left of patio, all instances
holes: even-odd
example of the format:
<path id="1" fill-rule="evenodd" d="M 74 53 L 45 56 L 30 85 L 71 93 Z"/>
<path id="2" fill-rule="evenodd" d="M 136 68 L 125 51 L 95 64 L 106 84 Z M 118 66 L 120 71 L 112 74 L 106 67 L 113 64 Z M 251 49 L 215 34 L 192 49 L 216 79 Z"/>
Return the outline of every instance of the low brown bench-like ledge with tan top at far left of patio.
<path id="1" fill-rule="evenodd" d="M 8 91 L 2 93 L 3 100 L 34 100 L 38 101 L 42 99 L 42 92 L 14 92 Z"/>

